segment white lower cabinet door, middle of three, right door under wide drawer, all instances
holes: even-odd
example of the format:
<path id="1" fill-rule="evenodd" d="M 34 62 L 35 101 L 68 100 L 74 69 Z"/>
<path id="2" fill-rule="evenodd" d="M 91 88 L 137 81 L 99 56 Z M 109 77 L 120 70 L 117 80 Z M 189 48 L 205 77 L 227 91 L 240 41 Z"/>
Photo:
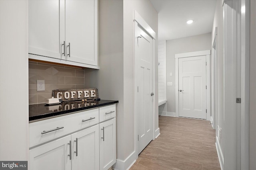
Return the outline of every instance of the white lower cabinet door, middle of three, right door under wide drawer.
<path id="1" fill-rule="evenodd" d="M 72 170 L 99 169 L 99 125 L 73 133 Z"/>

